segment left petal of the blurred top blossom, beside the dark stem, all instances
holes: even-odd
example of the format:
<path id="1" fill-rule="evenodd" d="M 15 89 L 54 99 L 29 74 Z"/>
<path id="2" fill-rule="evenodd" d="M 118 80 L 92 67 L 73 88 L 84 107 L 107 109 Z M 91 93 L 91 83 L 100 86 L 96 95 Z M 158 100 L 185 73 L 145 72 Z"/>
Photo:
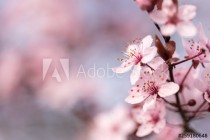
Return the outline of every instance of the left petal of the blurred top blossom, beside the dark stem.
<path id="1" fill-rule="evenodd" d="M 150 18 L 158 24 L 165 24 L 168 20 L 165 12 L 159 10 L 151 12 Z"/>

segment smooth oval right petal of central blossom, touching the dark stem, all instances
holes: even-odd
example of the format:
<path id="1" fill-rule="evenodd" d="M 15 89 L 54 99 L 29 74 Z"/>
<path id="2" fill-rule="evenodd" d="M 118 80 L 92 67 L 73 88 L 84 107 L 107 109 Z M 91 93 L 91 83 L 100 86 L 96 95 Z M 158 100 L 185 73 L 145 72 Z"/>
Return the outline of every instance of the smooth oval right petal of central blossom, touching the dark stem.
<path id="1" fill-rule="evenodd" d="M 158 94 L 161 97 L 167 97 L 167 96 L 175 94 L 178 90 L 179 90 L 178 84 L 174 82 L 169 82 L 160 87 Z"/>

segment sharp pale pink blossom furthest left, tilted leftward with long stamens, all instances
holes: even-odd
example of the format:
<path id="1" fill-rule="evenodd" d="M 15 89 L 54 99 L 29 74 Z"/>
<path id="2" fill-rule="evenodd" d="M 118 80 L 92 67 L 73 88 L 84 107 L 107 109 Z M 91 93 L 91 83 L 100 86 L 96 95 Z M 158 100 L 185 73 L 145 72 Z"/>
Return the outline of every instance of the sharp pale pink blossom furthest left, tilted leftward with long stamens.
<path id="1" fill-rule="evenodd" d="M 127 59 L 122 59 L 123 63 L 121 66 L 113 68 L 113 71 L 125 73 L 134 67 L 130 75 L 130 81 L 132 85 L 135 84 L 140 77 L 141 64 L 150 62 L 157 54 L 157 48 L 151 47 L 152 42 L 152 36 L 148 35 L 140 42 L 130 44 L 125 52 Z"/>

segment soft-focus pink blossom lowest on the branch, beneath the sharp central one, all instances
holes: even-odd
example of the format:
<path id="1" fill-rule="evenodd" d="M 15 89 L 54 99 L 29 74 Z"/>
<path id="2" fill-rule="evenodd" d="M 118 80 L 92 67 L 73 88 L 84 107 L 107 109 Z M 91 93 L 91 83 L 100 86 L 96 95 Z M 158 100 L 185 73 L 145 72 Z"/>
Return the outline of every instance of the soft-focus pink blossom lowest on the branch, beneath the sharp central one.
<path id="1" fill-rule="evenodd" d="M 157 100 L 155 106 L 144 111 L 142 106 L 134 108 L 133 115 L 137 123 L 140 124 L 136 135 L 144 137 L 151 132 L 160 133 L 166 125 L 165 105 L 162 100 Z"/>

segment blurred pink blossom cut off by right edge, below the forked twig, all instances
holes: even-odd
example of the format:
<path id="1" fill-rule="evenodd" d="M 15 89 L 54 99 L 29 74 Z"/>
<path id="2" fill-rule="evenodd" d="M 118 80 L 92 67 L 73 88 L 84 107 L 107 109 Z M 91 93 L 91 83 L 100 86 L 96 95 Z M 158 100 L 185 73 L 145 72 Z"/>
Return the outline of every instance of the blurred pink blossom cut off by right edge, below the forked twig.
<path id="1" fill-rule="evenodd" d="M 204 99 L 210 103 L 210 66 L 203 71 L 202 79 L 195 81 L 195 86 L 204 93 Z"/>

